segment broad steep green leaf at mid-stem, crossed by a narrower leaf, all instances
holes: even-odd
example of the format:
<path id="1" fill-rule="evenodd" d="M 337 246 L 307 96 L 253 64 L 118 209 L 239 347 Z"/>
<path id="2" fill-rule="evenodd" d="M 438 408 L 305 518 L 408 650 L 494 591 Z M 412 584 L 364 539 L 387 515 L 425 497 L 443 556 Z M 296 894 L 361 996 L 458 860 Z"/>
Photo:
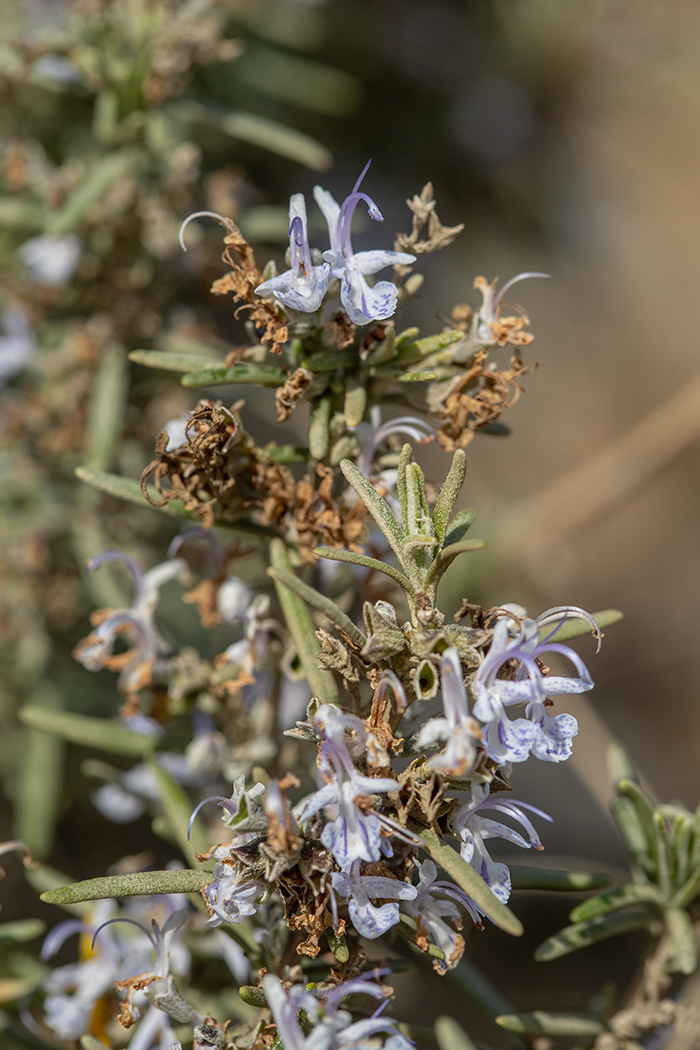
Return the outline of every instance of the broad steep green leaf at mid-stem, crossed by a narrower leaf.
<path id="1" fill-rule="evenodd" d="M 292 571 L 283 540 L 273 540 L 270 544 L 270 562 L 271 568 L 268 569 L 268 572 L 273 580 L 275 580 L 275 574 L 278 575 L 278 579 L 275 580 L 277 598 L 290 634 L 297 647 L 299 659 L 309 679 L 312 693 L 318 696 L 323 704 L 338 704 L 335 679 L 331 672 L 321 667 L 318 662 L 320 646 L 316 638 L 316 629 L 309 614 L 305 600 L 296 587 L 296 584 L 301 584 L 301 581 Z M 310 587 L 309 590 L 313 591 L 314 594 L 317 593 L 313 587 Z M 348 623 L 352 623 L 349 617 L 346 618 Z M 355 629 L 357 630 L 357 628 Z"/>

